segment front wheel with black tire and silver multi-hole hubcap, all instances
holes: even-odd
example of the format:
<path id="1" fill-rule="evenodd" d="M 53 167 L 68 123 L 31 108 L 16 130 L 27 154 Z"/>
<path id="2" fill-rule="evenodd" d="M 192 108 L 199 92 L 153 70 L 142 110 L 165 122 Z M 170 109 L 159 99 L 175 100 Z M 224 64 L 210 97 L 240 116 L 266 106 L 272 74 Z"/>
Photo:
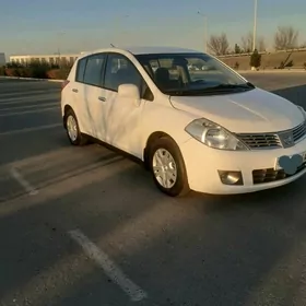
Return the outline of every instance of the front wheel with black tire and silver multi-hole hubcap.
<path id="1" fill-rule="evenodd" d="M 161 154 L 165 160 L 160 157 Z M 161 169 L 161 160 L 167 161 L 165 163 L 165 167 L 167 167 L 168 170 Z M 172 162 L 168 163 L 169 161 Z M 149 166 L 153 176 L 153 180 L 162 192 L 170 197 L 183 197 L 189 193 L 190 188 L 188 185 L 184 158 L 178 145 L 170 138 L 160 138 L 150 145 Z M 169 173 L 167 176 L 164 176 L 165 172 L 172 173 Z M 158 175 L 161 176 L 157 177 L 158 175 L 156 175 L 155 173 L 158 173 Z M 176 176 L 174 175 L 174 173 L 176 174 Z M 165 179 L 163 179 L 165 177 L 169 178 L 166 179 L 166 181 L 168 183 L 167 186 L 165 186 Z"/>

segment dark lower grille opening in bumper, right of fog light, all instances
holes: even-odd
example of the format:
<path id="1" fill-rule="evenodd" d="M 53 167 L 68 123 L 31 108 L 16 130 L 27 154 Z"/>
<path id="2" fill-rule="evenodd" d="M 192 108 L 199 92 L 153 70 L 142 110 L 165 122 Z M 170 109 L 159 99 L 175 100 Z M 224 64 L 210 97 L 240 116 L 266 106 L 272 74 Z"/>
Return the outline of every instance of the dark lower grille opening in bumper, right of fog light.
<path id="1" fill-rule="evenodd" d="M 295 174 L 298 174 L 303 169 L 305 169 L 306 165 L 303 163 L 296 170 Z M 262 184 L 262 183 L 270 183 L 270 181 L 276 181 L 281 179 L 289 178 L 293 175 L 285 174 L 283 169 L 274 170 L 273 168 L 267 168 L 267 169 L 256 169 L 252 170 L 252 183 L 256 184 Z"/>

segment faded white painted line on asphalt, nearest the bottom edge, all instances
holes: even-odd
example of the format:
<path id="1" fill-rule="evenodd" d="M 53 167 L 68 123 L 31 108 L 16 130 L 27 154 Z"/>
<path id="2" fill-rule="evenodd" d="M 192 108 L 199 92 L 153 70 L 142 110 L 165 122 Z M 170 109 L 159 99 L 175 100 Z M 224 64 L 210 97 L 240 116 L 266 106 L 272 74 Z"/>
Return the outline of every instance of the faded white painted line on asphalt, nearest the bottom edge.
<path id="1" fill-rule="evenodd" d="M 69 235 L 83 248 L 85 254 L 104 270 L 107 276 L 130 296 L 132 302 L 140 302 L 148 297 L 146 293 L 129 280 L 108 256 L 93 244 L 80 229 L 70 231 Z"/>

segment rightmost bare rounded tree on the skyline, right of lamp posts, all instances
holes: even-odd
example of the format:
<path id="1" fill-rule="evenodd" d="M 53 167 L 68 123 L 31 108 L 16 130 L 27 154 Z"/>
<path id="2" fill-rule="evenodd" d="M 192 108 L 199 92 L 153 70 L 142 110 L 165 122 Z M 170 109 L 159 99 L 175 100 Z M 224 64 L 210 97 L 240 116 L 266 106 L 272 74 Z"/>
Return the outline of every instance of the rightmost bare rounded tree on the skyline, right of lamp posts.
<path id="1" fill-rule="evenodd" d="M 292 26 L 279 26 L 274 35 L 274 48 L 276 50 L 287 50 L 296 48 L 298 45 L 298 31 Z"/>

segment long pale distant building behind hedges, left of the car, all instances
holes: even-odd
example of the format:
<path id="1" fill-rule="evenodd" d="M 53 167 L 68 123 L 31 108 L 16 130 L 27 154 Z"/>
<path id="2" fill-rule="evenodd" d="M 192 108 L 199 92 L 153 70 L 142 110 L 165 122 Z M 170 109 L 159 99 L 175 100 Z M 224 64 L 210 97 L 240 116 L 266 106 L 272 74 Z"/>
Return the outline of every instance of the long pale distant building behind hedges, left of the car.
<path id="1" fill-rule="evenodd" d="M 25 64 L 31 61 L 40 61 L 50 64 L 72 64 L 81 54 L 62 54 L 62 55 L 28 55 L 28 56 L 10 56 L 10 62 Z"/>

